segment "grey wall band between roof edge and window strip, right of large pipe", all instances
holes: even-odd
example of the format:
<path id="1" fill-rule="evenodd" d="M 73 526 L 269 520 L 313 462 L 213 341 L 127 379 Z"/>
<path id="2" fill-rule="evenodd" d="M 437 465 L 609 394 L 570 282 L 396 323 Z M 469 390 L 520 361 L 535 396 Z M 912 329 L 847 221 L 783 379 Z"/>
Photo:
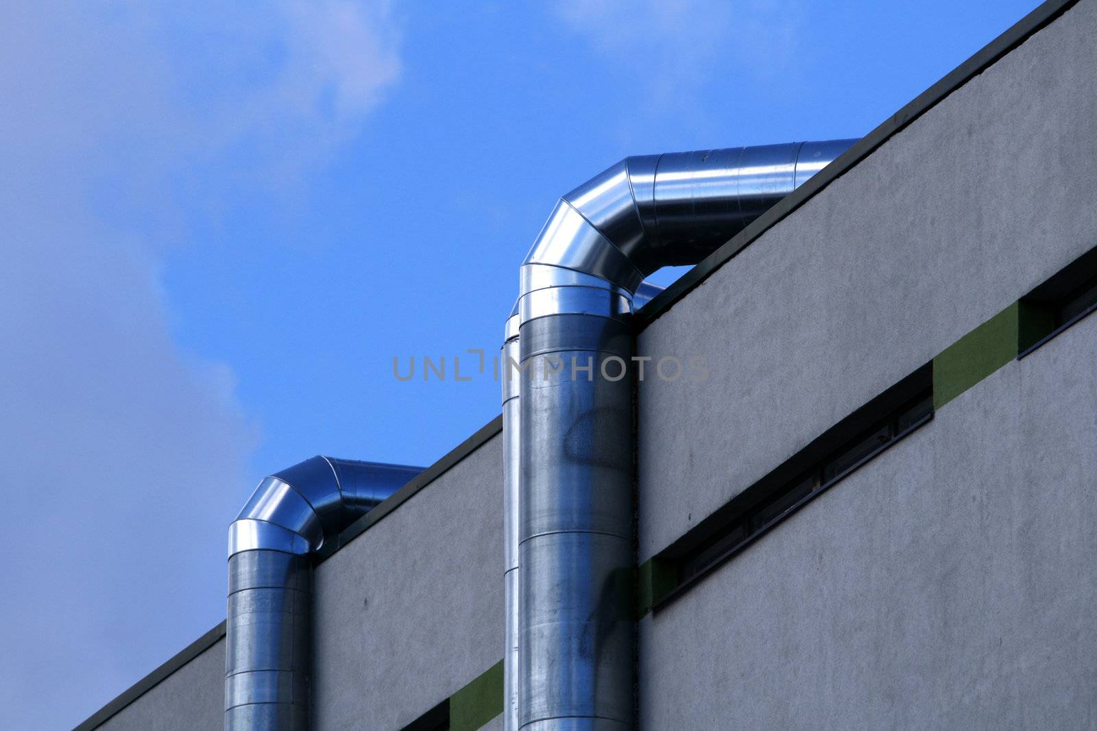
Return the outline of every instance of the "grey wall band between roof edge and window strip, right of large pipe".
<path id="1" fill-rule="evenodd" d="M 642 561 L 1097 243 L 1095 35 L 1083 0 L 642 333 L 711 367 L 641 385 Z"/>

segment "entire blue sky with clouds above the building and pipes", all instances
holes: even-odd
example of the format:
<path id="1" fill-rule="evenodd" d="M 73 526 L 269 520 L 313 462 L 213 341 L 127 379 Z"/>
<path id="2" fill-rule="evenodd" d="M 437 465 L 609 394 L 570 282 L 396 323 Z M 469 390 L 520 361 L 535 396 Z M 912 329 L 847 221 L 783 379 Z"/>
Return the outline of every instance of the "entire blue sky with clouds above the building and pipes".
<path id="1" fill-rule="evenodd" d="M 0 4 L 0 727 L 224 618 L 263 475 L 428 465 L 498 413 L 393 357 L 494 354 L 556 196 L 861 136 L 1034 4 Z"/>

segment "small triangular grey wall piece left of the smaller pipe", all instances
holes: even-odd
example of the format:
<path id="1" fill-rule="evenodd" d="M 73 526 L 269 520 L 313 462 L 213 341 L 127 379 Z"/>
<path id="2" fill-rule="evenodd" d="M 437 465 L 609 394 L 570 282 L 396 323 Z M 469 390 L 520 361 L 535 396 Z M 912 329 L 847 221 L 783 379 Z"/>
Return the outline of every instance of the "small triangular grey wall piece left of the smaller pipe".
<path id="1" fill-rule="evenodd" d="M 225 640 L 112 716 L 103 731 L 179 731 L 225 726 Z"/>

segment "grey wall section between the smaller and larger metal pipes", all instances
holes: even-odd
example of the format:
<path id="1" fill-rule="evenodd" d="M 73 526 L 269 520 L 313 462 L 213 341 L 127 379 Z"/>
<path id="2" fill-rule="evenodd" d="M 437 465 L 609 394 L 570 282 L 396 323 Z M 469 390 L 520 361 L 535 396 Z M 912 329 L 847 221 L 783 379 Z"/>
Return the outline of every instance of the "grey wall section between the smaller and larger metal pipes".
<path id="1" fill-rule="evenodd" d="M 314 728 L 398 729 L 502 659 L 496 436 L 316 571 Z"/>

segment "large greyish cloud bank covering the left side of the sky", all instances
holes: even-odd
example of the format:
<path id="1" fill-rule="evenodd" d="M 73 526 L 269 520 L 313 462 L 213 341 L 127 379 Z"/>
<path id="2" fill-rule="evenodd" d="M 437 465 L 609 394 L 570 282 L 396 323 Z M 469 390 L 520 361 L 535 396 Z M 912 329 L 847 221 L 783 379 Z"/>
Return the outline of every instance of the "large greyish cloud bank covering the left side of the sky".
<path id="1" fill-rule="evenodd" d="M 259 426 L 173 342 L 165 254 L 195 205 L 307 184 L 400 68 L 386 5 L 244 8 L 0 3 L 4 728 L 72 726 L 224 613 Z"/>

